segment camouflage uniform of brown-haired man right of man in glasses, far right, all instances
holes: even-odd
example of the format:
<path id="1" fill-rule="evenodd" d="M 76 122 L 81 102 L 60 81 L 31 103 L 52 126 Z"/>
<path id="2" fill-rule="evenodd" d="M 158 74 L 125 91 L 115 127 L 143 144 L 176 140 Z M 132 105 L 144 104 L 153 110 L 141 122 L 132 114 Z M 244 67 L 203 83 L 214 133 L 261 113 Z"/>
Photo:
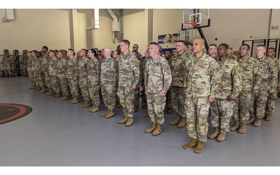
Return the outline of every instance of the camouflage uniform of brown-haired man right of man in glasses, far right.
<path id="1" fill-rule="evenodd" d="M 264 116 L 265 105 L 267 102 L 267 86 L 270 86 L 271 88 L 275 87 L 278 71 L 276 64 L 270 57 L 264 55 L 262 58 L 254 58 L 257 59 L 261 65 L 262 79 L 260 91 L 252 96 L 252 106 L 249 112 L 250 116 L 262 118 Z"/>

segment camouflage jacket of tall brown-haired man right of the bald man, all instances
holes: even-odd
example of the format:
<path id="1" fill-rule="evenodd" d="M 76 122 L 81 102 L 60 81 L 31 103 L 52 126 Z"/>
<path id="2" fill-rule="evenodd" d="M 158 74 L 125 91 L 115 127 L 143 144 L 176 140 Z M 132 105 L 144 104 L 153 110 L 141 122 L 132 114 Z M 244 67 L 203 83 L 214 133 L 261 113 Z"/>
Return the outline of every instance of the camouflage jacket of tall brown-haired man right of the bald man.
<path id="1" fill-rule="evenodd" d="M 119 82 L 118 86 L 132 86 L 137 85 L 140 79 L 139 63 L 136 56 L 130 51 L 126 54 L 119 55 Z"/>

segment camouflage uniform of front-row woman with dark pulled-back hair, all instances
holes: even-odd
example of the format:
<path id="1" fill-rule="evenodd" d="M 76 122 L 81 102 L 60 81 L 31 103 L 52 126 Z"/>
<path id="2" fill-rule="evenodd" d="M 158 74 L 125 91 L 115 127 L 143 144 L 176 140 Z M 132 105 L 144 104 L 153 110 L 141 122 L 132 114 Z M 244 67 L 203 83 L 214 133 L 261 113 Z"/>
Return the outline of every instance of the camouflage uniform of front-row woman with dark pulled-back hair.
<path id="1" fill-rule="evenodd" d="M 100 105 L 99 92 L 100 92 L 100 71 L 101 65 L 97 58 L 90 59 L 86 65 L 87 77 L 89 84 L 89 93 L 92 104 L 95 106 Z M 105 104 L 105 102 L 104 102 Z"/>

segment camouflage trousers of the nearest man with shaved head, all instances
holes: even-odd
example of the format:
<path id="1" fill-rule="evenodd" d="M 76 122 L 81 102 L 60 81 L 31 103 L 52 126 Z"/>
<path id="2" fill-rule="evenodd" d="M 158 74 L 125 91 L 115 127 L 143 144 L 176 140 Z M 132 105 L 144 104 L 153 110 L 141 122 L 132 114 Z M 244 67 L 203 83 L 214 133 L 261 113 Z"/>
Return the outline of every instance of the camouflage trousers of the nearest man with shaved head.
<path id="1" fill-rule="evenodd" d="M 208 96 L 200 98 L 186 97 L 186 124 L 188 134 L 194 139 L 206 142 L 208 132 L 207 117 L 210 103 Z"/>

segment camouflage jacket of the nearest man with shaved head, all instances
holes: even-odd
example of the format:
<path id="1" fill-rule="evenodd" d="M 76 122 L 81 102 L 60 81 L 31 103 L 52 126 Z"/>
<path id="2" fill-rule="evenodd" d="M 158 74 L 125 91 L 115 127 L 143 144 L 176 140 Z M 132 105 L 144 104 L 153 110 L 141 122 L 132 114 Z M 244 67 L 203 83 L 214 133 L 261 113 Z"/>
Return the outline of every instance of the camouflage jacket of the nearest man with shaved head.
<path id="1" fill-rule="evenodd" d="M 186 97 L 215 98 L 221 87 L 221 77 L 219 65 L 212 57 L 203 53 L 202 57 L 195 61 L 193 56 L 187 60 L 185 72 Z"/>

